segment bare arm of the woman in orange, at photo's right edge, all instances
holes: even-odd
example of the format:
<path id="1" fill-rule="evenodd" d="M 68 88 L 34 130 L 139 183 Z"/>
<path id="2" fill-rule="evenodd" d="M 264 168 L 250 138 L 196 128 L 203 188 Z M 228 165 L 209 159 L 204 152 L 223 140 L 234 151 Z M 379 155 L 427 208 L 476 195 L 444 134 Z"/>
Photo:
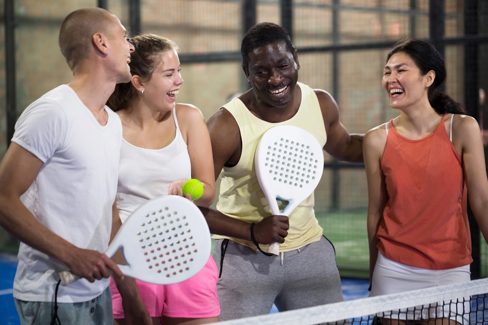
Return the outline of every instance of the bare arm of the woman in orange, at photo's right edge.
<path id="1" fill-rule="evenodd" d="M 474 118 L 454 115 L 452 136 L 455 147 L 461 142 L 469 205 L 488 242 L 488 180 L 480 128 Z"/>

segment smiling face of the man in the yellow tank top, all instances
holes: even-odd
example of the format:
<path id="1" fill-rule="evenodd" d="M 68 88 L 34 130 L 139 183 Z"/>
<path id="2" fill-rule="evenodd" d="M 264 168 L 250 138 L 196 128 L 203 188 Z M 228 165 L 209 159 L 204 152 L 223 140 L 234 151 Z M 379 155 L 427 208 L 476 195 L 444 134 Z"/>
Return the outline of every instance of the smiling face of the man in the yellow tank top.
<path id="1" fill-rule="evenodd" d="M 298 81 L 300 63 L 286 49 L 285 42 L 271 43 L 249 53 L 244 69 L 258 104 L 284 107 L 291 101 Z"/>

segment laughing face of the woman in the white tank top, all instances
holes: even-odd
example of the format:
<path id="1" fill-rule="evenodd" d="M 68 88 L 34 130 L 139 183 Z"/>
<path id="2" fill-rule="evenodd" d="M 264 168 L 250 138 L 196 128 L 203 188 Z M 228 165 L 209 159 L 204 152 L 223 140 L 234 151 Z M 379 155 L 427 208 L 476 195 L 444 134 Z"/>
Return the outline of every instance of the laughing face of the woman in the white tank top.
<path id="1" fill-rule="evenodd" d="M 144 103 L 154 111 L 171 111 L 175 108 L 176 95 L 183 84 L 180 70 L 176 50 L 164 52 L 151 79 L 142 83 L 144 94 L 140 97 Z"/>

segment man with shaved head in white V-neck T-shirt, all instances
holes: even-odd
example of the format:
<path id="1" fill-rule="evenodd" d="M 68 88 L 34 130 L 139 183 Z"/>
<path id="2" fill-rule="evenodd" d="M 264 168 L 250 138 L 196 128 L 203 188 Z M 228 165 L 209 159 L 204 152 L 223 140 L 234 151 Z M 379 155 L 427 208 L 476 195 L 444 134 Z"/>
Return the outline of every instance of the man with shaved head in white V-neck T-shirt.
<path id="1" fill-rule="evenodd" d="M 21 324 L 49 324 L 58 272 L 80 280 L 59 288 L 62 324 L 112 324 L 103 251 L 112 227 L 122 123 L 105 106 L 131 78 L 134 47 L 106 10 L 72 12 L 60 31 L 74 78 L 32 103 L 0 164 L 0 225 L 22 242 L 14 280 Z"/>

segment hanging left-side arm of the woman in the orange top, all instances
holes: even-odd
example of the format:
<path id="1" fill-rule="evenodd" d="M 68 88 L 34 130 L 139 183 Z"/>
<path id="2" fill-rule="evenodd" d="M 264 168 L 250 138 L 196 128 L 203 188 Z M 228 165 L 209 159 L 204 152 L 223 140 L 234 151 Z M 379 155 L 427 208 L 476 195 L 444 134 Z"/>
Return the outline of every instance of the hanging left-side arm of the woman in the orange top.
<path id="1" fill-rule="evenodd" d="M 366 167 L 366 179 L 368 189 L 367 208 L 367 237 L 369 243 L 369 285 L 373 277 L 376 259 L 378 257 L 379 239 L 376 237 L 378 228 L 383 220 L 388 194 L 386 193 L 385 175 L 380 168 L 381 157 L 385 151 L 386 132 L 385 127 L 379 126 L 364 137 L 364 157 Z"/>

